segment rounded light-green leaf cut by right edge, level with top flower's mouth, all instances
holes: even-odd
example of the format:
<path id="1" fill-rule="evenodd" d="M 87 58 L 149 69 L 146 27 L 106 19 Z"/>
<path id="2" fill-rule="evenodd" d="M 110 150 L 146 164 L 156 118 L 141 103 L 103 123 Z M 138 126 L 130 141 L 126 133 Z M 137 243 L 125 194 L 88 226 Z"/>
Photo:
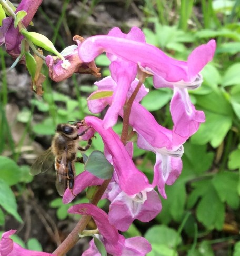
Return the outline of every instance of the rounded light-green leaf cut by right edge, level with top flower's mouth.
<path id="1" fill-rule="evenodd" d="M 240 83 L 240 63 L 234 63 L 228 69 L 226 70 L 224 76 L 222 85 L 223 86 L 229 86 L 229 85 L 235 85 Z"/>

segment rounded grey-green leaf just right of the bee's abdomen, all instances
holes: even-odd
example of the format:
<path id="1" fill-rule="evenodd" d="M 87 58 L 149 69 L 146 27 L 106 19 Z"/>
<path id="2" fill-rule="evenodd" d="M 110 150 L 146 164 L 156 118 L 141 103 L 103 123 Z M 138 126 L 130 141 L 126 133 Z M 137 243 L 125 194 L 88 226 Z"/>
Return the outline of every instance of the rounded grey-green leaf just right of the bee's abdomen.
<path id="1" fill-rule="evenodd" d="M 84 169 L 101 179 L 110 179 L 113 175 L 113 166 L 107 161 L 101 151 L 95 150 L 89 156 Z"/>

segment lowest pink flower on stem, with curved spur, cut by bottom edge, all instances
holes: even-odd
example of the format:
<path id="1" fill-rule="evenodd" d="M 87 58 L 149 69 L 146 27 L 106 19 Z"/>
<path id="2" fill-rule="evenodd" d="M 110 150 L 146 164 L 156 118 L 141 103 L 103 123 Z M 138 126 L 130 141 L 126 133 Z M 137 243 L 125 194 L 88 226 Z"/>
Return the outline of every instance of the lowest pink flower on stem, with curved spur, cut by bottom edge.
<path id="1" fill-rule="evenodd" d="M 90 215 L 94 219 L 102 241 L 105 245 L 107 253 L 113 256 L 120 255 L 146 255 L 151 251 L 151 245 L 145 238 L 134 237 L 125 239 L 118 230 L 109 223 L 108 215 L 100 208 L 92 204 L 74 205 L 68 210 L 69 213 Z M 91 243 L 89 248 L 83 255 L 98 255 L 96 248 Z"/>

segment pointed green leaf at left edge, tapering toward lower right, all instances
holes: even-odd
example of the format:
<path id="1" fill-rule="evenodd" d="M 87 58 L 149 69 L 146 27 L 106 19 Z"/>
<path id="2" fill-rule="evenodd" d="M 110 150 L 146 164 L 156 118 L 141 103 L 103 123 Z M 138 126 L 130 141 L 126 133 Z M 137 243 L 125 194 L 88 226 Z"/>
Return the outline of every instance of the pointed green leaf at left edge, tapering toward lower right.
<path id="1" fill-rule="evenodd" d="M 8 184 L 0 179 L 0 205 L 9 214 L 13 215 L 16 220 L 23 223 L 21 216 L 17 212 L 17 203 L 12 190 L 9 188 Z"/>

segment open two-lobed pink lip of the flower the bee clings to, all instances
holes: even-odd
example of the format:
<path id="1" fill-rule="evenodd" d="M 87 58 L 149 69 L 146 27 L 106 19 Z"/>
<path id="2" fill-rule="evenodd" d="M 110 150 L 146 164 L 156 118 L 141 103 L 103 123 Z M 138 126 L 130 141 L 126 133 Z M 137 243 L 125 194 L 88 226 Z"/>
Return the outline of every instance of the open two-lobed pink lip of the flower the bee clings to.
<path id="1" fill-rule="evenodd" d="M 118 230 L 126 231 L 135 219 L 149 222 L 162 210 L 158 193 L 152 188 L 139 192 L 135 196 L 128 196 L 118 186 L 111 182 L 106 191 L 111 201 L 109 221 Z"/>

